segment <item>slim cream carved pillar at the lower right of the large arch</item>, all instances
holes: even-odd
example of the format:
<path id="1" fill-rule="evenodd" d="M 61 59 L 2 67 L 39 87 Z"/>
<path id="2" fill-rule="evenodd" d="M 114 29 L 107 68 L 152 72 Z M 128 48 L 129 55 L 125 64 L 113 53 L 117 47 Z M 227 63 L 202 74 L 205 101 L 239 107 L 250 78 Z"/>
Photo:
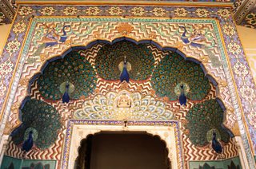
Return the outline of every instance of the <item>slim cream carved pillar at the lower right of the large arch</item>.
<path id="1" fill-rule="evenodd" d="M 242 168 L 249 169 L 249 164 L 247 163 L 246 159 L 246 151 L 245 147 L 243 147 L 241 136 L 235 136 L 234 138 L 232 138 L 232 140 L 238 148 L 238 154 Z"/>

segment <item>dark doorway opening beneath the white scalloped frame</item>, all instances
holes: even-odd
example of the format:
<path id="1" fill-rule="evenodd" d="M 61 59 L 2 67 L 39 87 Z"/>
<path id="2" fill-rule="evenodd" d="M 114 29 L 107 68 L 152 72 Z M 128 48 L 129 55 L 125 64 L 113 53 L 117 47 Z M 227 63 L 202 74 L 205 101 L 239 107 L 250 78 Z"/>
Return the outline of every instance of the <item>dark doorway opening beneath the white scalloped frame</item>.
<path id="1" fill-rule="evenodd" d="M 78 153 L 77 169 L 170 169 L 166 143 L 146 132 L 99 132 Z"/>

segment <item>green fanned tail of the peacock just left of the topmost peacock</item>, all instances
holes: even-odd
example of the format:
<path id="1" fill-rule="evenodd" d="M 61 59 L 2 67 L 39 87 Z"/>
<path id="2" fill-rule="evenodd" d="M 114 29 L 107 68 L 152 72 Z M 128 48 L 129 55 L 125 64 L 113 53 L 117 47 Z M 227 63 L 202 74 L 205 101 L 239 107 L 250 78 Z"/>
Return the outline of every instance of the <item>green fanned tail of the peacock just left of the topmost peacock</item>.
<path id="1" fill-rule="evenodd" d="M 66 81 L 74 86 L 74 92 L 69 93 L 71 99 L 89 96 L 96 88 L 94 68 L 78 51 L 74 50 L 46 66 L 38 77 L 39 92 L 46 100 L 60 100 L 63 95 L 60 86 Z"/>

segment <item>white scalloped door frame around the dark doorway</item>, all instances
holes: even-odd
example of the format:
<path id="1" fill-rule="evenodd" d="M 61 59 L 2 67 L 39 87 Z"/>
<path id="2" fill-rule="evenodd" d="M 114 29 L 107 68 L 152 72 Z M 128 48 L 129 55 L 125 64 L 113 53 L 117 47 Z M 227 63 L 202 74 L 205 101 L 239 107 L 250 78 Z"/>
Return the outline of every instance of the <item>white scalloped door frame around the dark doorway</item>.
<path id="1" fill-rule="evenodd" d="M 102 123 L 103 125 L 98 123 Z M 158 136 L 160 140 L 166 143 L 166 149 L 168 150 L 167 157 L 171 161 L 171 168 L 182 168 L 182 149 L 179 132 L 177 131 L 177 122 L 159 122 L 156 124 L 153 121 L 142 123 L 130 121 L 126 127 L 122 124 L 122 121 L 83 121 L 78 124 L 74 121 L 70 125 L 69 132 L 72 132 L 72 134 L 65 145 L 66 151 L 64 152 L 62 167 L 74 168 L 82 140 L 90 135 L 100 132 L 144 132 L 150 136 Z"/>

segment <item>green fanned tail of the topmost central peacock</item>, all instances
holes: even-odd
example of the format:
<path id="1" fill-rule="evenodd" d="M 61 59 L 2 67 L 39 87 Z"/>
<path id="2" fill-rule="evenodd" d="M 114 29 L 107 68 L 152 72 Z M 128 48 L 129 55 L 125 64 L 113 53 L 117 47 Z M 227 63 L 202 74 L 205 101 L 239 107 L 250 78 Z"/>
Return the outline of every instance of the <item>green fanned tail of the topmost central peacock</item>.
<path id="1" fill-rule="evenodd" d="M 146 80 L 154 69 L 154 56 L 149 45 L 136 45 L 129 41 L 104 45 L 95 60 L 98 75 L 106 80 L 118 80 L 121 74 L 118 65 L 126 56 L 126 61 L 131 66 L 128 69 L 130 78 L 135 81 Z"/>

